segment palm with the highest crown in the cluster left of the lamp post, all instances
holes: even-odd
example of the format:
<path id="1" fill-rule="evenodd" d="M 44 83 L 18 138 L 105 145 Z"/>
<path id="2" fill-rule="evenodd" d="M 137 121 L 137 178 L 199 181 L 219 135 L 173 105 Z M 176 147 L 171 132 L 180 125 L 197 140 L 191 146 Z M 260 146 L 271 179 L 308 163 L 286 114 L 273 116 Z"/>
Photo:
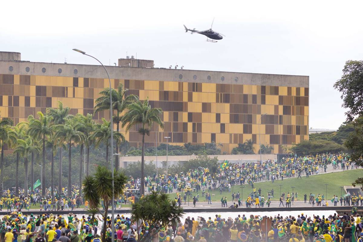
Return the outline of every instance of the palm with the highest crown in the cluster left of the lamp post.
<path id="1" fill-rule="evenodd" d="M 56 125 L 65 124 L 69 118 L 69 107 L 63 107 L 63 103 L 58 101 L 58 108 L 47 108 L 48 115 L 53 118 Z M 59 174 L 58 174 L 58 193 L 62 193 L 62 160 L 63 160 L 63 143 L 59 143 Z"/>

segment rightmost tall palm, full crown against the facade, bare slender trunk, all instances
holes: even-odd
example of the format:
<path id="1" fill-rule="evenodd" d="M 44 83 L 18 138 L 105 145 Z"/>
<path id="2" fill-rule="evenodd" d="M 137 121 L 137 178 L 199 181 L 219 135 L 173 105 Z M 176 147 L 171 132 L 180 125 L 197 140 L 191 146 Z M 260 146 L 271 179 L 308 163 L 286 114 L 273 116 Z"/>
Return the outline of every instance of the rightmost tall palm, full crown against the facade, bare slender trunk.
<path id="1" fill-rule="evenodd" d="M 122 117 L 122 127 L 126 126 L 129 131 L 136 124 L 141 124 L 138 132 L 142 135 L 142 153 L 141 153 L 141 194 L 144 194 L 144 153 L 145 153 L 145 135 L 150 135 L 150 128 L 156 123 L 164 128 L 164 123 L 160 118 L 162 114 L 161 108 L 151 108 L 148 98 L 143 102 L 137 101 L 129 105 L 129 110 Z"/>

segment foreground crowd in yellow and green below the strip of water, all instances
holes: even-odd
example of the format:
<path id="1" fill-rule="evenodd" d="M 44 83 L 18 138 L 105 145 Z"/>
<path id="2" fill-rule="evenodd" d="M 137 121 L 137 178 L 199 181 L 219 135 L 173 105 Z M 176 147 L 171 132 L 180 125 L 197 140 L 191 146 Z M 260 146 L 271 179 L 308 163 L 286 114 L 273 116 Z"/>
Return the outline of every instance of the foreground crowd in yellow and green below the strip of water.
<path id="1" fill-rule="evenodd" d="M 363 215 L 352 212 L 327 217 L 304 213 L 296 217 L 280 214 L 274 217 L 238 214 L 235 218 L 222 218 L 218 214 L 208 218 L 188 216 L 183 222 L 174 221 L 164 227 L 133 221 L 120 214 L 114 221 L 107 217 L 107 223 L 103 224 L 98 216 L 78 218 L 73 213 L 28 216 L 11 212 L 0 220 L 0 239 L 1 242 L 101 242 L 102 228 L 106 226 L 107 242 L 112 236 L 117 242 L 135 242 L 138 238 L 151 242 L 260 242 L 266 238 L 269 242 L 362 242 Z"/>

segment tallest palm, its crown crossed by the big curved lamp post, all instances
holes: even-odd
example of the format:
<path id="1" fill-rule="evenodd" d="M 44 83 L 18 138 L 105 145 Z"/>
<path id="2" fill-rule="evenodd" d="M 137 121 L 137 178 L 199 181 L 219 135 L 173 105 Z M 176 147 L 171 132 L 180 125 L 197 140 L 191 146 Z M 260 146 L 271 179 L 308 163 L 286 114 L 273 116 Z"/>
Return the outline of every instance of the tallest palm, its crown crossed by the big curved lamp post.
<path id="1" fill-rule="evenodd" d="M 113 116 L 113 122 L 116 124 L 117 132 L 119 132 L 120 122 L 122 117 L 120 114 L 127 109 L 127 107 L 138 100 L 138 97 L 135 95 L 128 95 L 126 93 L 129 89 L 124 89 L 123 85 L 120 83 L 117 87 L 117 90 L 112 89 L 112 108 L 116 110 L 116 116 Z M 110 109 L 110 89 L 105 88 L 99 94 L 102 96 L 96 99 L 95 113 L 102 110 L 109 110 Z M 119 147 L 116 145 L 116 153 L 118 153 Z M 115 165 L 116 170 L 119 169 L 118 165 L 118 157 L 115 157 Z"/>

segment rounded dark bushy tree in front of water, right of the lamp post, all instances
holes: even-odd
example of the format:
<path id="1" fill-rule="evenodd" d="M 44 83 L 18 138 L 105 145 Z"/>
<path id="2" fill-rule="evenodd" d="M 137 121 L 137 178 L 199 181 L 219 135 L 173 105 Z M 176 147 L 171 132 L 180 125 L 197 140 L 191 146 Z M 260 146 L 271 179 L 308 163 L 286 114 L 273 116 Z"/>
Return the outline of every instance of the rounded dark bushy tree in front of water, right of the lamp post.
<path id="1" fill-rule="evenodd" d="M 131 209 L 131 219 L 148 223 L 150 225 L 150 234 L 151 229 L 156 226 L 160 228 L 169 224 L 176 226 L 183 214 L 183 208 L 176 205 L 175 200 L 170 200 L 165 193 L 154 191 L 132 204 Z"/>

